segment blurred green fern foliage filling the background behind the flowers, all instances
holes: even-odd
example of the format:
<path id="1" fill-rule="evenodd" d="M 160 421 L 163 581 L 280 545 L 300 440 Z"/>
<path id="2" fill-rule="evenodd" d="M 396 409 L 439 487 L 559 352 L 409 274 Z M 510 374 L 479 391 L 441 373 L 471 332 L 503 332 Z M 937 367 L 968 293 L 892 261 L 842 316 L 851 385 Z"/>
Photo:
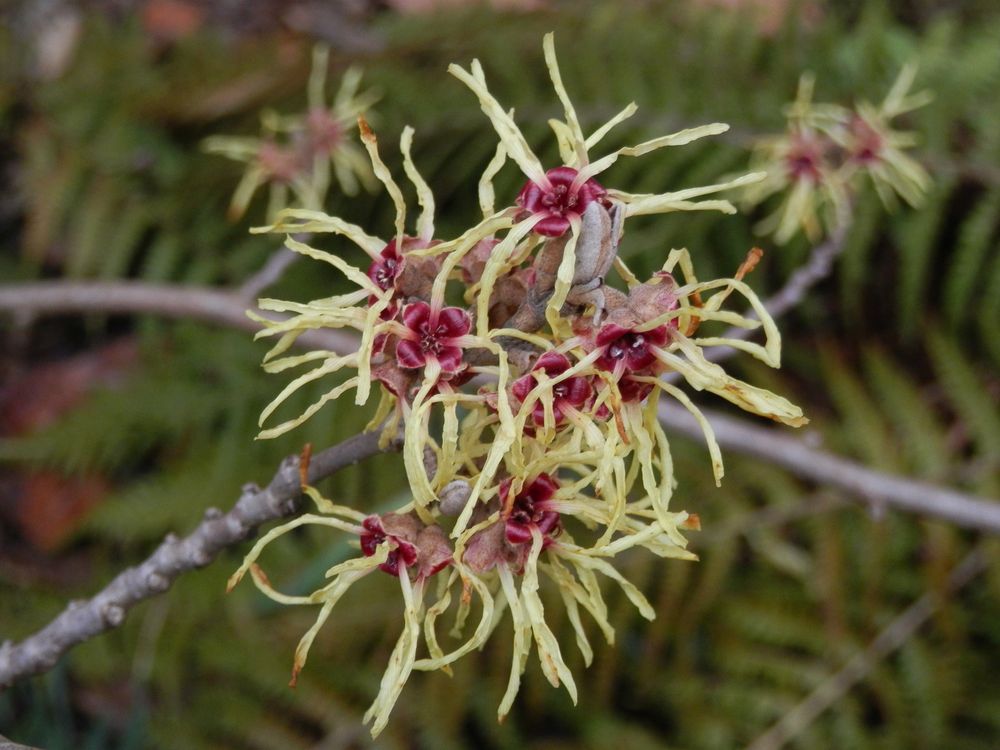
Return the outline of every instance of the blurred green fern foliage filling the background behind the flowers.
<path id="1" fill-rule="evenodd" d="M 785 367 L 741 366 L 753 369 L 754 382 L 806 405 L 812 437 L 828 449 L 996 497 L 1000 14 L 989 6 L 914 21 L 878 2 L 853 14 L 830 4 L 809 23 L 790 12 L 767 33 L 717 5 L 653 0 L 553 3 L 510 15 L 384 14 L 371 27 L 381 50 L 360 62 L 383 92 L 376 130 L 387 163 L 398 163 L 391 144 L 413 125 L 414 158 L 447 234 L 477 211 L 476 180 L 495 145 L 475 102 L 444 73 L 448 62 L 488 61 L 500 100 L 522 103 L 520 122 L 544 123 L 555 102 L 538 41 L 555 29 L 585 130 L 632 100 L 640 110 L 618 133 L 622 143 L 708 121 L 733 125 L 711 143 L 641 164 L 623 160 L 609 178 L 658 192 L 743 168 L 753 138 L 782 128 L 782 106 L 804 70 L 816 74 L 817 98 L 849 103 L 880 99 L 899 68 L 916 60 L 918 86 L 936 99 L 907 126 L 921 136 L 933 195 L 923 210 L 893 215 L 872 195 L 859 196 L 834 277 L 781 323 Z M 97 17 L 82 34 L 58 79 L 26 86 L 16 66 L 5 73 L 0 117 L 17 154 L 6 168 L 18 191 L 0 214 L 8 230 L 0 275 L 220 286 L 245 278 L 273 252 L 273 239 L 225 222 L 239 168 L 200 154 L 197 144 L 209 134 L 255 132 L 264 104 L 301 105 L 308 40 L 234 39 L 206 29 L 164 50 L 138 25 Z M 341 56 L 335 65 L 355 61 Z M 525 132 L 555 163 L 544 125 Z M 499 194 L 519 189 L 514 172 L 500 175 Z M 329 208 L 373 231 L 391 225 L 382 197 L 335 196 Z M 681 246 L 692 250 L 700 275 L 729 274 L 759 241 L 757 218 L 678 214 L 648 227 L 636 220 L 623 252 L 640 275 Z M 761 291 L 776 289 L 809 250 L 804 240 L 764 249 L 751 278 Z M 293 266 L 274 295 L 330 294 L 335 279 L 305 266 Z M 121 337 L 134 338 L 140 351 L 123 384 L 43 430 L 0 441 L 5 472 L 98 473 L 115 488 L 59 551 L 79 568 L 68 581 L 0 567 L 4 637 L 37 629 L 67 598 L 89 595 L 167 532 L 190 529 L 205 508 L 227 507 L 243 482 L 266 482 L 302 443 L 335 442 L 369 416 L 334 403 L 325 419 L 286 439 L 254 442 L 257 414 L 277 383 L 258 368 L 262 345 L 239 332 L 93 317 L 40 324 L 27 340 L 13 326 L 2 333 L 8 369 Z M 317 396 L 305 389 L 290 408 Z M 609 592 L 621 605 L 619 642 L 597 649 L 579 707 L 529 669 L 519 706 L 497 726 L 509 654 L 509 644 L 497 643 L 450 680 L 411 680 L 378 746 L 744 746 L 914 600 L 943 592 L 948 571 L 977 542 L 975 533 L 942 523 L 872 515 L 836 490 L 732 453 L 717 490 L 697 447 L 677 439 L 675 451 L 685 494 L 678 502 L 700 513 L 705 528 L 696 540 L 701 562 L 630 561 L 629 576 L 658 617 L 639 621 Z M 375 510 L 403 491 L 395 460 L 345 471 L 324 491 Z M 23 546 L 9 531 L 0 541 L 5 559 Z M 273 546 L 268 570 L 288 590 L 315 587 L 348 553 L 339 539 L 313 532 Z M 996 747 L 1000 550 L 992 543 L 987 554 L 984 576 L 947 596 L 930 622 L 789 746 Z M 368 746 L 361 712 L 399 627 L 391 581 L 352 592 L 314 645 L 314 668 L 292 691 L 285 687 L 292 651 L 310 613 L 279 612 L 250 587 L 224 596 L 240 555 L 233 550 L 181 579 L 119 630 L 0 696 L 0 731 L 45 748 Z M 569 624 L 562 625 L 569 643 Z"/>

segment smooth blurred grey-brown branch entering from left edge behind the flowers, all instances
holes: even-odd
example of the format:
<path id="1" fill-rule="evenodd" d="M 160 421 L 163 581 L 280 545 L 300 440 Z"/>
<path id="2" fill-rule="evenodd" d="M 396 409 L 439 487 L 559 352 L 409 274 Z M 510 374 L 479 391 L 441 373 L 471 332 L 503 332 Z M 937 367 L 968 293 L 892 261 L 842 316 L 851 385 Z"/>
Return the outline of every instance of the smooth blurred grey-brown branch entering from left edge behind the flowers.
<path id="1" fill-rule="evenodd" d="M 149 313 L 166 318 L 200 320 L 256 333 L 260 326 L 247 317 L 250 304 L 242 292 L 140 281 L 47 281 L 0 285 L 0 311 L 14 314 L 22 320 L 64 313 Z M 331 351 L 357 346 L 353 336 L 332 329 L 307 331 L 299 337 L 299 343 L 311 349 Z"/>

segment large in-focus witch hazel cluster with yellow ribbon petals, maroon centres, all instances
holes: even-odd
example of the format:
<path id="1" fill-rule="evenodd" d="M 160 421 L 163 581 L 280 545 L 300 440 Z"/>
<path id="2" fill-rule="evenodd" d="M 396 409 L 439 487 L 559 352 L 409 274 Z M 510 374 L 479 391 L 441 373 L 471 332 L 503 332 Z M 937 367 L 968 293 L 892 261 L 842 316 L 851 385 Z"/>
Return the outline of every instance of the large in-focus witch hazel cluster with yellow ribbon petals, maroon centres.
<path id="1" fill-rule="evenodd" d="M 563 645 L 546 622 L 543 579 L 554 584 L 588 664 L 593 649 L 581 612 L 596 621 L 609 643 L 614 640 L 598 574 L 653 618 L 649 602 L 612 561 L 636 547 L 660 557 L 695 559 L 683 531 L 697 529 L 698 518 L 671 508 L 670 446 L 657 420 L 662 397 L 677 400 L 698 420 L 716 480 L 723 474 L 711 426 L 685 390 L 661 375 L 674 373 L 697 391 L 787 425 L 806 421 L 797 406 L 732 377 L 705 355 L 711 347 L 733 346 L 779 365 L 778 331 L 743 281 L 752 262 L 732 278 L 702 281 L 688 252 L 672 250 L 661 269 L 642 281 L 618 255 L 629 217 L 689 210 L 731 213 L 728 201 L 697 199 L 762 175 L 661 194 L 633 194 L 602 184 L 598 178 L 620 157 L 682 145 L 726 126 L 693 128 L 592 158 L 592 149 L 635 112 L 635 105 L 584 135 L 562 84 L 551 35 L 544 51 L 565 112 L 563 120 L 551 121 L 563 163 L 548 169 L 509 110 L 490 94 L 478 61 L 468 70 L 451 67 L 499 136 L 479 184 L 482 218 L 464 234 L 436 236 L 434 198 L 411 158 L 409 128 L 400 151 L 420 212 L 408 233 L 403 192 L 364 120 L 360 134 L 374 174 L 396 206 L 392 232 L 372 236 L 336 217 L 302 209 L 283 211 L 273 225 L 256 230 L 339 235 L 369 259 L 363 269 L 334 253 L 286 241 L 292 250 L 330 264 L 358 288 L 307 303 L 261 300 L 262 309 L 287 315 L 281 322 L 259 319 L 264 327 L 259 336 L 277 339 L 265 369 L 308 368 L 264 410 L 261 425 L 305 384 L 322 380 L 330 387 L 305 412 L 263 429 L 260 437 L 286 433 L 349 391 L 357 404 L 377 394 L 372 428 L 382 425 L 386 439 L 402 433 L 412 499 L 391 513 L 366 516 L 307 488 L 317 513 L 264 536 L 231 583 L 249 571 L 258 588 L 276 601 L 320 606 L 316 624 L 296 651 L 297 675 L 347 587 L 376 570 L 399 580 L 405 625 L 366 716 L 373 721 L 373 734 L 385 726 L 413 670 L 450 669 L 501 626 L 505 610 L 514 630 L 514 653 L 499 717 L 511 708 L 533 648 L 548 680 L 564 685 L 575 700 Z M 497 209 L 492 180 L 508 158 L 526 182 L 510 204 Z M 605 283 L 612 269 L 623 288 Z M 753 315 L 723 309 L 731 297 L 742 299 L 741 310 L 749 304 Z M 730 326 L 762 328 L 764 342 L 720 333 Z M 355 330 L 357 350 L 288 354 L 300 334 L 320 327 Z M 719 332 L 713 334 L 712 328 Z M 354 535 L 360 553 L 328 571 L 329 582 L 313 594 L 286 596 L 271 586 L 256 561 L 271 541 L 305 524 Z M 432 603 L 425 603 L 425 596 Z M 458 640 L 446 651 L 437 624 L 452 609 L 450 633 Z M 474 610 L 479 621 L 471 627 L 467 620 Z"/>

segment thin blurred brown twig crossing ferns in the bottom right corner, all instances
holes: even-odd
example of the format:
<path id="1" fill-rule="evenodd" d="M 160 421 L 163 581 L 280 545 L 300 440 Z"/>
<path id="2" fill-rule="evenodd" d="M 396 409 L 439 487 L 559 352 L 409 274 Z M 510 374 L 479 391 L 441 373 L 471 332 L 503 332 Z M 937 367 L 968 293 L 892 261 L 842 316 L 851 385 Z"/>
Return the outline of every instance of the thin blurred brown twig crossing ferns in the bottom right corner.
<path id="1" fill-rule="evenodd" d="M 907 607 L 876 636 L 861 653 L 855 655 L 838 672 L 816 687 L 801 703 L 781 717 L 760 735 L 747 750 L 778 750 L 794 739 L 830 706 L 843 698 L 861 682 L 882 659 L 898 649 L 930 619 L 944 603 L 944 596 L 957 591 L 985 570 L 986 555 L 981 545 L 972 550 L 948 576 L 946 590 L 941 594 L 927 592 Z"/>

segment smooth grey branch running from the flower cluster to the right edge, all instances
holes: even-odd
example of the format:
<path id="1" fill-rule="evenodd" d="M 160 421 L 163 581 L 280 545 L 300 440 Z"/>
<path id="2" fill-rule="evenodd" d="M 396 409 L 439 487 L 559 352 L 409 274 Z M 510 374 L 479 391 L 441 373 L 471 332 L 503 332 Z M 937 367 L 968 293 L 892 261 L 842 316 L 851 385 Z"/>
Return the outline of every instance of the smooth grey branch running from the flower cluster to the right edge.
<path id="1" fill-rule="evenodd" d="M 805 479 L 839 487 L 876 509 L 891 506 L 958 526 L 1000 533 L 1000 501 L 873 471 L 853 461 L 810 448 L 801 438 L 782 435 L 776 430 L 708 409 L 702 412 L 723 448 L 762 458 Z M 661 403 L 659 418 L 664 425 L 679 433 L 696 440 L 702 438 L 701 427 L 680 406 Z"/>

